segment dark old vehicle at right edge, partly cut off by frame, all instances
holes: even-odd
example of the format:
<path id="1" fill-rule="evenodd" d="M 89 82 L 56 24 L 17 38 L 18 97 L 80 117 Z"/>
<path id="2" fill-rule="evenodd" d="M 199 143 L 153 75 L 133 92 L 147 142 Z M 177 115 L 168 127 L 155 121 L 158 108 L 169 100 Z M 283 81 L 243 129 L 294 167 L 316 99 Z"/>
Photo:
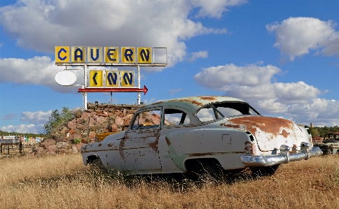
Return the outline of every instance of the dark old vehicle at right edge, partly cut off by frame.
<path id="1" fill-rule="evenodd" d="M 324 140 L 316 145 L 324 154 L 339 154 L 339 132 L 325 134 Z"/>

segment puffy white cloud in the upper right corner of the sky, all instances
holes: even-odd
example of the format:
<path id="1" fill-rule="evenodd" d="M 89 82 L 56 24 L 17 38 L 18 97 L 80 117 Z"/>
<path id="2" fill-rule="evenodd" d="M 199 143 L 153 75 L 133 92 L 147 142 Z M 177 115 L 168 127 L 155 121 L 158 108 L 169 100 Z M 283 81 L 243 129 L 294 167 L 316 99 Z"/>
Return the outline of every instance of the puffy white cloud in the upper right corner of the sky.
<path id="1" fill-rule="evenodd" d="M 309 54 L 339 56 L 339 32 L 332 20 L 321 21 L 314 17 L 289 17 L 282 22 L 267 24 L 266 29 L 275 33 L 274 46 L 283 56 L 293 61 L 296 57 Z"/>

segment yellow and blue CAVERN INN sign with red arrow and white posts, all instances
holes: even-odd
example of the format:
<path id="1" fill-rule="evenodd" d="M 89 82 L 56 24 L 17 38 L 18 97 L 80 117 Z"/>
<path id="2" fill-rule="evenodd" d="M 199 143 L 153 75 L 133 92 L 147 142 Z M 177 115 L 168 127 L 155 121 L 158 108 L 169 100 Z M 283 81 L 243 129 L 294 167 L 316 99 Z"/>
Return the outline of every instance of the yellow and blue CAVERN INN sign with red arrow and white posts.
<path id="1" fill-rule="evenodd" d="M 164 52 L 155 55 L 155 51 L 158 50 L 164 50 Z M 83 66 L 83 85 L 81 89 L 78 89 L 78 92 L 83 92 L 83 108 L 85 110 L 87 110 L 87 92 L 137 92 L 137 103 L 140 104 L 140 93 L 146 94 L 148 91 L 146 86 L 144 89 L 140 87 L 140 66 L 167 66 L 167 48 L 137 48 L 136 50 L 134 47 L 104 47 L 104 53 L 102 53 L 102 47 L 88 47 L 87 52 L 83 46 L 55 47 L 55 64 L 57 66 L 66 66 L 66 70 L 67 66 Z M 119 53 L 121 53 L 120 56 Z M 159 59 L 160 62 L 155 62 L 155 59 Z M 137 66 L 137 87 L 134 84 L 134 71 L 117 71 L 117 73 L 115 71 L 90 71 L 90 87 L 88 87 L 88 66 Z M 71 70 L 69 69 L 69 71 Z M 109 73 L 106 74 L 106 72 Z M 71 73 L 68 74 L 70 77 L 73 76 Z M 55 80 L 57 81 L 57 78 Z M 72 81 L 57 82 L 64 85 Z"/>

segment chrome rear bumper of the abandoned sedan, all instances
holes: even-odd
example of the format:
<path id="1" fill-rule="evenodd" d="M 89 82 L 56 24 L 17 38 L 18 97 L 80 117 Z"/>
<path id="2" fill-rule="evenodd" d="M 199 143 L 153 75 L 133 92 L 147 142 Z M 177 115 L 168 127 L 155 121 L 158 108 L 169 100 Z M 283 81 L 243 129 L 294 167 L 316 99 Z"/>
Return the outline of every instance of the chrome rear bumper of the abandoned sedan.
<path id="1" fill-rule="evenodd" d="M 269 155 L 242 155 L 240 157 L 243 164 L 246 166 L 274 166 L 277 164 L 288 164 L 290 161 L 300 161 L 302 159 L 309 159 L 310 157 L 319 157 L 322 151 L 319 147 L 312 147 L 308 143 L 301 143 L 300 151 L 296 153 L 289 152 L 289 146 L 281 145 L 279 154 Z"/>

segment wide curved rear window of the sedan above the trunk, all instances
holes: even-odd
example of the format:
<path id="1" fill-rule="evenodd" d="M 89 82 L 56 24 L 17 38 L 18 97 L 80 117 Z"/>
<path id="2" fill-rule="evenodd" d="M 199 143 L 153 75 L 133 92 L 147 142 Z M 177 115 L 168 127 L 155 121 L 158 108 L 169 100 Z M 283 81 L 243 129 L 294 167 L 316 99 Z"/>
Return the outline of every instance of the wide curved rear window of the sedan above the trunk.
<path id="1" fill-rule="evenodd" d="M 201 122 L 217 120 L 223 117 L 235 115 L 260 115 L 258 111 L 251 108 L 248 103 L 244 102 L 220 102 L 211 103 L 200 108 L 197 117 Z"/>

